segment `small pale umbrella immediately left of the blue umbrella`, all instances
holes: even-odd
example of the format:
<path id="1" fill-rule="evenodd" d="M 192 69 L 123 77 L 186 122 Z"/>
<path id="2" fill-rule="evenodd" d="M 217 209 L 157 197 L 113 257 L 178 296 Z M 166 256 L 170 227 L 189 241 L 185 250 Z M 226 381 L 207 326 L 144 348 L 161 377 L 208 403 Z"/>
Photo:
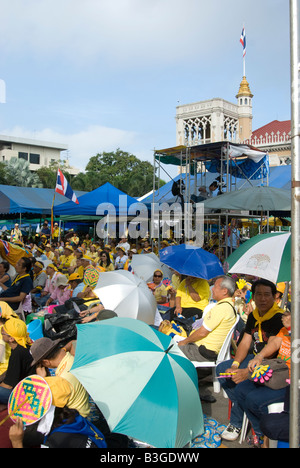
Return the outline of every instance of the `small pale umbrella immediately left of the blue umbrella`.
<path id="1" fill-rule="evenodd" d="M 134 273 L 142 280 L 146 281 L 146 283 L 152 281 L 153 273 L 157 269 L 163 272 L 164 279 L 172 279 L 171 269 L 161 262 L 153 252 L 149 254 L 133 255 L 131 267 Z"/>

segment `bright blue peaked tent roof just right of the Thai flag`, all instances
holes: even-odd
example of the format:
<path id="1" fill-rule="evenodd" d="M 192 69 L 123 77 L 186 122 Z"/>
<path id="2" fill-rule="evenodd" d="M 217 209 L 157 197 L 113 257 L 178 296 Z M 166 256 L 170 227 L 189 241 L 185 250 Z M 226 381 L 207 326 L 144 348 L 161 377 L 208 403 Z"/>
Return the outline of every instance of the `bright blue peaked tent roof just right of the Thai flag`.
<path id="1" fill-rule="evenodd" d="M 121 198 L 120 198 L 121 197 Z M 84 216 L 103 216 L 106 210 L 110 210 L 113 205 L 115 214 L 127 214 L 127 207 L 134 203 L 138 203 L 137 200 L 121 190 L 117 189 L 109 182 L 98 187 L 92 192 L 88 192 L 85 195 L 78 197 L 79 204 L 72 202 L 63 203 L 54 207 L 54 214 L 60 215 L 84 215 Z M 101 205 L 101 212 L 99 210 Z"/>

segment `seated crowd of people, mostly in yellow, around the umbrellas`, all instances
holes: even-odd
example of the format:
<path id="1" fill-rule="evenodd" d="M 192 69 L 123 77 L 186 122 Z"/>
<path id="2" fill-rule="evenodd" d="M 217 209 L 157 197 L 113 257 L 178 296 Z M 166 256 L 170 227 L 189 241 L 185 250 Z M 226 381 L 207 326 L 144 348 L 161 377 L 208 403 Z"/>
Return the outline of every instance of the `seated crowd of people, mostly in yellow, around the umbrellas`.
<path id="1" fill-rule="evenodd" d="M 9 275 L 9 263 L 0 263 L 0 409 L 7 411 L 9 396 L 18 382 L 38 374 L 51 389 L 54 410 L 47 433 L 41 433 L 38 424 L 24 430 L 17 421 L 11 425 L 10 441 L 5 439 L 6 444 L 72 447 L 76 443 L 64 433 L 66 423 L 62 421 L 68 424 L 76 421 L 78 427 L 85 427 L 85 432 L 78 431 L 77 446 L 130 447 L 133 444 L 130 438 L 110 432 L 102 413 L 70 372 L 76 340 L 62 345 L 61 340 L 42 337 L 32 342 L 26 318 L 50 307 L 58 314 L 60 307 L 76 299 L 83 305 L 78 312 L 81 323 L 115 317 L 116 313 L 105 310 L 93 287 L 86 284 L 86 272 L 93 267 L 99 272 L 125 269 L 134 274 L 132 256 L 158 254 L 158 247 L 149 239 L 133 243 L 125 237 L 105 244 L 89 236 L 78 236 L 73 230 L 61 241 L 58 237 L 50 238 L 47 225 L 43 228 L 39 236 L 26 244 L 32 256 L 18 260 L 14 277 Z M 22 242 L 18 231 L 14 235 Z M 161 248 L 170 243 L 173 241 L 164 241 Z M 153 327 L 177 337 L 180 350 L 193 362 L 216 361 L 235 326 L 232 359 L 219 364 L 216 370 L 232 403 L 230 423 L 222 438 L 236 440 L 246 414 L 253 429 L 253 446 L 264 446 L 266 437 L 288 441 L 289 409 L 285 407 L 284 413 L 277 415 L 276 423 L 274 415 L 268 415 L 271 403 L 287 400 L 288 383 L 272 389 L 258 385 L 249 377 L 267 358 L 279 357 L 290 369 L 290 292 L 281 304 L 286 285 L 240 275 L 206 281 L 176 271 L 171 281 L 165 282 L 163 271 L 155 269 L 148 287 L 156 299 L 159 314 L 159 324 Z M 208 375 L 207 369 L 197 369 L 197 373 L 199 381 Z M 200 393 L 200 398 L 214 401 L 213 395 Z M 91 435 L 95 431 L 99 437 Z"/>

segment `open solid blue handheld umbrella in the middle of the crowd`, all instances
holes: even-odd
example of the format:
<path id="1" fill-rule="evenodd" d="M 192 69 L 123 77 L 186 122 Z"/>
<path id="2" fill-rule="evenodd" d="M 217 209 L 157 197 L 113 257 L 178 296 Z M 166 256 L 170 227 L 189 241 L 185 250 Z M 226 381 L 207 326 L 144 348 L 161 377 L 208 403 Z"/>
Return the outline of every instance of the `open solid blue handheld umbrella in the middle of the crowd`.
<path id="1" fill-rule="evenodd" d="M 160 260 L 178 273 L 210 280 L 224 275 L 218 257 L 191 244 L 171 245 L 159 251 Z"/>

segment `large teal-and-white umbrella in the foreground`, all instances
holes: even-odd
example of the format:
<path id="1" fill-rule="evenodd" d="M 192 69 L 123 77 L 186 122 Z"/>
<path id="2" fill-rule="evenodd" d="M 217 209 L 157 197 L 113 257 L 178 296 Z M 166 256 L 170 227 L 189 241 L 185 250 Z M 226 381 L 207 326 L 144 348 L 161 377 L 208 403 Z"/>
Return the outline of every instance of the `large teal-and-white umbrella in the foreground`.
<path id="1" fill-rule="evenodd" d="M 77 328 L 71 373 L 111 431 L 166 448 L 202 434 L 197 372 L 172 338 L 119 317 Z"/>

